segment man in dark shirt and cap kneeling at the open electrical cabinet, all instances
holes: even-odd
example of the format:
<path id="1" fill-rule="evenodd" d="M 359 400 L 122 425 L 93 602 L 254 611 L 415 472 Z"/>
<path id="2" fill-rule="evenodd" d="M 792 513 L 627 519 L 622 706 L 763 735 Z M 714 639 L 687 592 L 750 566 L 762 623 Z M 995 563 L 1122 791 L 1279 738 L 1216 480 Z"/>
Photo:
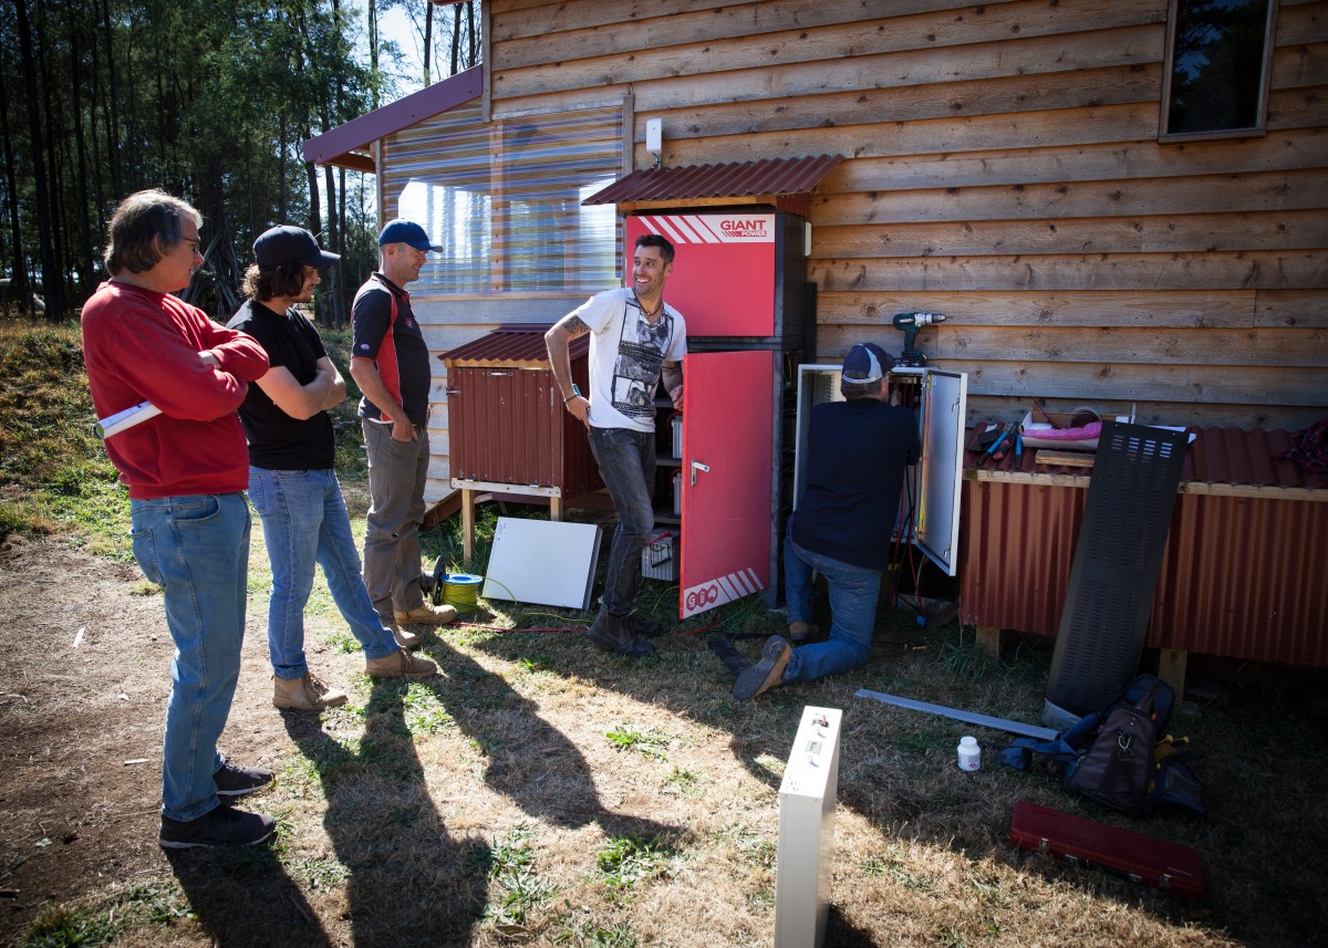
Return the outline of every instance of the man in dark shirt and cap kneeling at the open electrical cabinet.
<path id="1" fill-rule="evenodd" d="M 811 631 L 811 574 L 826 578 L 830 637 L 798 649 L 784 636 L 766 639 L 761 660 L 733 685 L 738 701 L 781 682 L 813 681 L 867 661 L 904 467 L 922 454 L 916 418 L 890 392 L 887 374 L 894 365 L 872 343 L 853 347 L 839 378 L 845 401 L 811 409 L 807 487 L 789 518 L 784 583 L 789 635 L 798 640 Z"/>

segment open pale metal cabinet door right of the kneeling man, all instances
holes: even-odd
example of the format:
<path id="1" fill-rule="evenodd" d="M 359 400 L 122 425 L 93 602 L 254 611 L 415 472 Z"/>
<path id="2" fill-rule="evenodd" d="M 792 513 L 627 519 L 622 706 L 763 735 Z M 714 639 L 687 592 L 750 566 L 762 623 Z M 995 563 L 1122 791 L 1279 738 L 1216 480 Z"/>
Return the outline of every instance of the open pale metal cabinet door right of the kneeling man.
<path id="1" fill-rule="evenodd" d="M 907 369 L 906 369 L 907 370 Z M 961 372 L 922 369 L 923 397 L 918 433 L 922 461 L 912 467 L 914 544 L 947 575 L 959 563 L 959 497 L 963 487 L 964 417 L 968 376 Z"/>

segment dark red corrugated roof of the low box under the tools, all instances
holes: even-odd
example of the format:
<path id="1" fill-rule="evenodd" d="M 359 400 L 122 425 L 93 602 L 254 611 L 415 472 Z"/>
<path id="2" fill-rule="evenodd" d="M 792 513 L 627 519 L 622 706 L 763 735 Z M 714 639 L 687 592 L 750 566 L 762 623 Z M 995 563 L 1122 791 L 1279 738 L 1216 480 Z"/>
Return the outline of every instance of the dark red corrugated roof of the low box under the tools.
<path id="1" fill-rule="evenodd" d="M 1181 471 L 1182 490 L 1220 489 L 1224 486 L 1252 486 L 1286 490 L 1324 490 L 1328 501 L 1328 479 L 1311 474 L 1295 461 L 1282 455 L 1291 447 L 1291 433 L 1283 429 L 1246 432 L 1239 428 L 1190 428 L 1195 437 L 1185 453 L 1185 467 Z M 976 429 L 973 433 L 976 437 Z M 973 443 L 972 438 L 968 442 Z M 1064 465 L 1040 465 L 1037 451 L 1024 449 L 1021 458 L 1007 453 L 1000 461 L 988 461 L 977 469 L 976 477 L 1004 479 L 1008 475 L 1056 475 L 1082 478 L 1088 485 L 1093 470 L 1090 467 L 1069 467 Z M 969 451 L 968 467 L 977 466 L 979 454 Z"/>

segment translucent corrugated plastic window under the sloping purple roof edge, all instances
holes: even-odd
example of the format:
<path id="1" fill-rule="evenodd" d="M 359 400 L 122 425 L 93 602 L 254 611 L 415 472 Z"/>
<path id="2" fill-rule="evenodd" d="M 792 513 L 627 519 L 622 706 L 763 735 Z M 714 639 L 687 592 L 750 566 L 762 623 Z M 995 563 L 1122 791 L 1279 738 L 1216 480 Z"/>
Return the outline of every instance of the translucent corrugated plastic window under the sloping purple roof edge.
<path id="1" fill-rule="evenodd" d="M 483 122 L 458 106 L 386 139 L 388 212 L 442 246 L 417 295 L 598 292 L 619 281 L 618 215 L 582 200 L 622 169 L 619 108 Z"/>

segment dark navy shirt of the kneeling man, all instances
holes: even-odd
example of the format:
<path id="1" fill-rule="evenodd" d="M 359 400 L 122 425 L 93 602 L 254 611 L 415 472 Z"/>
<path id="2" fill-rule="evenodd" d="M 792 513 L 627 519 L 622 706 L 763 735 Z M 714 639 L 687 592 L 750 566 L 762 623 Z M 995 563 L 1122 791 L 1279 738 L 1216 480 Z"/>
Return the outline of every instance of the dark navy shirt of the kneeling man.
<path id="1" fill-rule="evenodd" d="M 807 450 L 793 542 L 842 563 L 884 570 L 904 466 L 920 454 L 914 413 L 874 400 L 823 402 L 811 409 Z"/>

